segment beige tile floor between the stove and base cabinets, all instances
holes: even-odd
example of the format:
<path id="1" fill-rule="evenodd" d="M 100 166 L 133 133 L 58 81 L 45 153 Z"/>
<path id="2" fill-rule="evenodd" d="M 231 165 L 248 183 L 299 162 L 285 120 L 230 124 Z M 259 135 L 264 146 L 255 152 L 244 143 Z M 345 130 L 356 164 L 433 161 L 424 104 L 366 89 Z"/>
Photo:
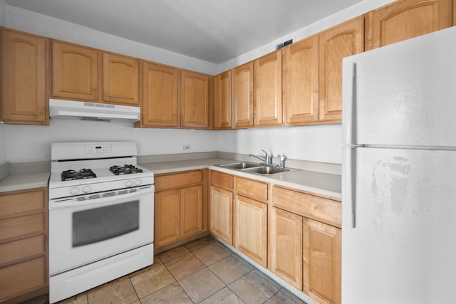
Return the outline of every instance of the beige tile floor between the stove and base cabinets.
<path id="1" fill-rule="evenodd" d="M 43 304 L 36 298 L 26 304 Z M 207 237 L 155 256 L 154 264 L 59 304 L 304 303 Z"/>

